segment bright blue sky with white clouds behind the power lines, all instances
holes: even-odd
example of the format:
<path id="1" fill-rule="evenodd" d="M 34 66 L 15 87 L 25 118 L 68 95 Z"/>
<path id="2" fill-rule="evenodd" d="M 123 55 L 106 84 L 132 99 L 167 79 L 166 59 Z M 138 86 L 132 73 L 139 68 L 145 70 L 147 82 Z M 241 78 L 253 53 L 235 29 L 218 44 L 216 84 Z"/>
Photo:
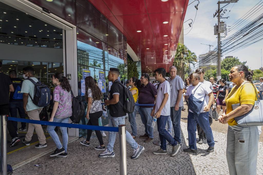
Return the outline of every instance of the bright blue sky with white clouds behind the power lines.
<path id="1" fill-rule="evenodd" d="M 185 29 L 184 34 L 186 34 L 184 35 L 184 44 L 192 52 L 195 52 L 197 56 L 203 53 L 206 49 L 209 49 L 209 46 L 202 45 L 200 43 L 212 44 L 214 41 L 217 41 L 217 38 L 216 38 L 217 35 L 214 35 L 214 25 L 215 23 L 217 23 L 217 20 L 218 20 L 217 17 L 213 18 L 213 14 L 215 13 L 216 9 L 218 9 L 218 4 L 217 4 L 218 1 L 217 0 L 199 0 L 199 1 L 200 1 L 200 4 L 198 5 L 198 11 L 196 14 L 196 18 L 192 25 L 193 28 L 190 32 L 189 30 L 191 28 L 188 28 L 189 27 L 188 23 L 191 21 L 184 23 L 184 29 Z M 227 9 L 227 12 L 223 16 L 223 17 L 229 16 L 229 18 L 222 19 L 222 20 L 226 22 L 227 26 L 231 26 L 233 23 L 239 20 L 247 11 L 249 11 L 252 7 L 254 7 L 259 1 L 260 0 L 248 0 L 248 1 L 239 0 L 235 4 L 230 3 L 227 7 L 224 8 L 224 9 Z M 189 1 L 189 3 L 191 2 L 193 2 L 193 0 Z M 198 1 L 195 1 L 190 6 L 188 6 L 184 21 L 188 19 L 194 20 L 195 13 L 196 13 L 196 9 L 194 8 L 194 6 L 197 4 L 197 2 Z M 224 5 L 226 4 L 221 4 L 221 7 L 223 7 Z M 261 5 L 263 5 L 263 3 Z M 231 11 L 229 12 L 230 9 Z M 227 15 L 227 13 L 229 14 Z M 252 17 L 247 22 L 245 22 L 244 25 L 248 24 L 249 22 L 254 20 L 257 16 L 259 16 L 262 13 L 263 13 L 263 9 L 260 10 L 258 13 L 256 13 L 254 17 Z M 241 25 L 237 27 L 236 29 L 239 30 L 244 25 Z M 231 36 L 237 30 L 230 31 L 227 34 L 227 37 Z M 263 41 L 259 41 L 258 43 L 255 43 L 240 51 L 232 52 L 227 55 L 223 55 L 223 58 L 225 58 L 225 56 L 235 56 L 235 57 L 238 57 L 240 61 L 247 61 L 247 65 L 252 70 L 259 69 L 261 67 L 260 49 L 263 49 L 262 44 L 263 44 Z M 216 45 L 217 43 L 214 44 L 214 46 Z M 213 47 L 211 48 L 211 50 L 213 50 Z"/>

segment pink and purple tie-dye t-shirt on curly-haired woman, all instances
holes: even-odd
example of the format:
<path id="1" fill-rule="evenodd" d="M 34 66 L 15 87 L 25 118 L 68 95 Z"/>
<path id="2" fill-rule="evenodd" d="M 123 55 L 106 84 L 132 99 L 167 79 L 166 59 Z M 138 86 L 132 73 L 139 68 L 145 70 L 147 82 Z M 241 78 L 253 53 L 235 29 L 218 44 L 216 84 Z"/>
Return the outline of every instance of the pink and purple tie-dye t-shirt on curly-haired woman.
<path id="1" fill-rule="evenodd" d="M 54 88 L 54 102 L 58 102 L 55 118 L 63 119 L 72 115 L 71 92 L 65 91 L 61 86 Z"/>

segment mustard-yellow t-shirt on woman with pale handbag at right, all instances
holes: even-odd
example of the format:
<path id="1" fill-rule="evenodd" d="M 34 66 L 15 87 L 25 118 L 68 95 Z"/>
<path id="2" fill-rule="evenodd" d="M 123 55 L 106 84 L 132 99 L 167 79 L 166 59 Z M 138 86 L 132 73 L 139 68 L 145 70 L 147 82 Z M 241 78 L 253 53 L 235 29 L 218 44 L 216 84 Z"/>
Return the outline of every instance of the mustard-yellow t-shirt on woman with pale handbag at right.
<path id="1" fill-rule="evenodd" d="M 244 81 L 237 89 L 236 85 L 231 89 L 231 92 L 226 97 L 226 114 L 230 113 L 232 109 L 232 104 L 255 104 L 257 100 L 254 85 L 251 83 L 245 83 L 248 81 Z M 245 84 L 244 84 L 245 83 Z M 242 86 L 244 86 L 242 88 Z M 234 118 L 228 121 L 228 125 L 234 126 L 237 125 Z"/>

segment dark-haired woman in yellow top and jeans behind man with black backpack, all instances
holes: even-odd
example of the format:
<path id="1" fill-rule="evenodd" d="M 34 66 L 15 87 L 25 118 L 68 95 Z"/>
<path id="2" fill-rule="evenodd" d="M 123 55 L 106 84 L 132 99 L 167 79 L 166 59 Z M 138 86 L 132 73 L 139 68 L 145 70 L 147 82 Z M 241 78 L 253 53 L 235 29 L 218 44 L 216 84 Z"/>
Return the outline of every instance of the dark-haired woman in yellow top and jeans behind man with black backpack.
<path id="1" fill-rule="evenodd" d="M 138 95 L 139 95 L 139 88 L 141 86 L 141 82 L 138 78 L 136 77 L 132 77 L 130 78 L 130 84 L 131 86 L 130 91 L 133 95 L 134 98 L 134 102 L 135 104 L 138 104 Z M 137 126 L 136 126 L 136 121 L 135 121 L 135 117 L 136 117 L 136 112 L 138 111 L 138 106 L 135 106 L 133 113 L 128 114 L 129 115 L 129 122 L 131 124 L 131 136 L 133 138 L 136 138 L 137 136 Z"/>

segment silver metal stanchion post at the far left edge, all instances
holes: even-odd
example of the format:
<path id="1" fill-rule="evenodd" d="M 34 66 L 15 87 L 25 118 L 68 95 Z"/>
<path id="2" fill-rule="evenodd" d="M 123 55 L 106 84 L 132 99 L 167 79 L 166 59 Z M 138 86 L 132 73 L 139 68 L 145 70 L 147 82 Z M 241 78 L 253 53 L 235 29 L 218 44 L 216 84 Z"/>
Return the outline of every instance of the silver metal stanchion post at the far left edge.
<path id="1" fill-rule="evenodd" d="M 1 169 L 2 174 L 7 174 L 7 118 L 1 115 Z"/>

